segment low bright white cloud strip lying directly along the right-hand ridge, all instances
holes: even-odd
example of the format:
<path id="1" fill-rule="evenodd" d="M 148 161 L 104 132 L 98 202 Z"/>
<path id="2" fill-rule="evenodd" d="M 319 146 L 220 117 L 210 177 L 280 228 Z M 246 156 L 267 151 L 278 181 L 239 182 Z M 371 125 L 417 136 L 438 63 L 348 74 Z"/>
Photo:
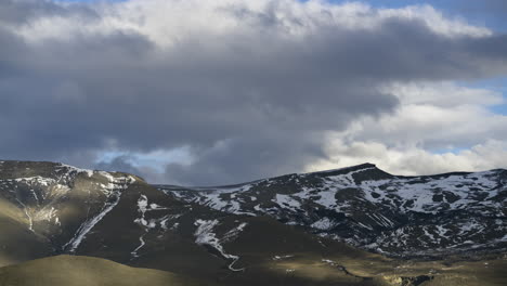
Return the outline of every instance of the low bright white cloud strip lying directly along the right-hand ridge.
<path id="1" fill-rule="evenodd" d="M 328 159 L 307 166 L 306 171 L 317 171 L 376 164 L 393 174 L 435 174 L 452 171 L 484 171 L 506 168 L 507 143 L 486 140 L 460 152 L 431 153 L 418 147 L 389 147 L 379 142 L 346 143 L 335 139 L 328 143 Z"/>

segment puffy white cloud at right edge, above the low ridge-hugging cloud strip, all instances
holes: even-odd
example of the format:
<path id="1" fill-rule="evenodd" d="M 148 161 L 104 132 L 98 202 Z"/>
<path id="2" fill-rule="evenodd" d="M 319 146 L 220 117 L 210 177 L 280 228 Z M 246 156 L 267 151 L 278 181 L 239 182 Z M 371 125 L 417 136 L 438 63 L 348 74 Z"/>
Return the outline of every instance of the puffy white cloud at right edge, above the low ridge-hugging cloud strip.
<path id="1" fill-rule="evenodd" d="M 381 140 L 390 145 L 469 146 L 484 139 L 506 140 L 507 116 L 491 113 L 477 105 L 439 107 L 429 104 L 402 105 L 378 120 L 365 119 L 363 130 L 353 136 Z"/>

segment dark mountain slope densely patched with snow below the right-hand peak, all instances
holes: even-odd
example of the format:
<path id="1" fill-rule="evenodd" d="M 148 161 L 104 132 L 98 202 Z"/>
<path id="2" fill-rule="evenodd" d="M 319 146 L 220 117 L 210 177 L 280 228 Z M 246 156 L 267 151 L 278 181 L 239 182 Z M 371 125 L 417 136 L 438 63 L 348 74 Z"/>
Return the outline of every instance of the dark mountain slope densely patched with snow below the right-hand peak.
<path id="1" fill-rule="evenodd" d="M 372 164 L 223 187 L 157 186 L 188 203 L 270 216 L 391 256 L 507 247 L 507 170 L 399 177 Z"/>

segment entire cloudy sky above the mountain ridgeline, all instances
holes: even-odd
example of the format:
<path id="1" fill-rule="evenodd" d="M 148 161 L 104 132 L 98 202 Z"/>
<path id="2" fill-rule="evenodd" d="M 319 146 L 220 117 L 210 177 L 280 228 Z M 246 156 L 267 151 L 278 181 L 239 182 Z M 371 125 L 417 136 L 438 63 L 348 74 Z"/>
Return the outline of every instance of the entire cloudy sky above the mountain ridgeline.
<path id="1" fill-rule="evenodd" d="M 0 158 L 218 185 L 507 168 L 503 0 L 0 1 Z"/>

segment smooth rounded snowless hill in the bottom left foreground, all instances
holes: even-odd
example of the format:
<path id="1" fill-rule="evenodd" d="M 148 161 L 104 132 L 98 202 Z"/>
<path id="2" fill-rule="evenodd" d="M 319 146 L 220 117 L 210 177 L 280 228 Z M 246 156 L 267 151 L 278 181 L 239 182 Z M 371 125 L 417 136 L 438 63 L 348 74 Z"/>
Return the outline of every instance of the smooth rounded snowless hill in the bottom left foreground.
<path id="1" fill-rule="evenodd" d="M 0 269 L 1 286 L 212 285 L 165 271 L 135 269 L 105 259 L 57 256 Z"/>

